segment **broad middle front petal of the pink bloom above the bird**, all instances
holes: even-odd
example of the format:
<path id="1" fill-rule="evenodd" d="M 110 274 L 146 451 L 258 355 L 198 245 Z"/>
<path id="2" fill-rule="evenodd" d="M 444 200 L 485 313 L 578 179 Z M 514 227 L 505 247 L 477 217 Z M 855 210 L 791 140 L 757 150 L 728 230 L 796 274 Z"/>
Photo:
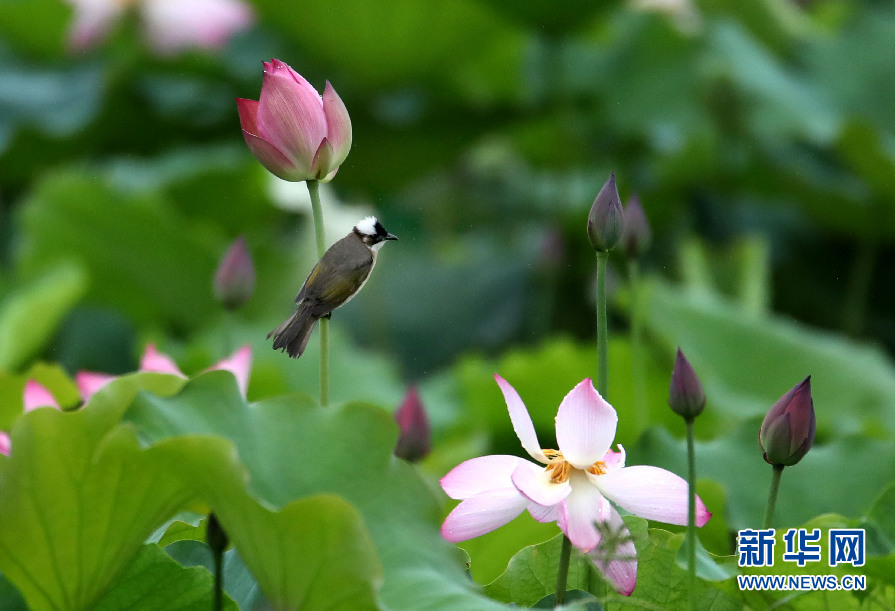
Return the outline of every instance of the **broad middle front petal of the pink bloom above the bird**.
<path id="1" fill-rule="evenodd" d="M 299 173 L 313 179 L 311 164 L 326 137 L 326 115 L 317 90 L 285 63 L 264 65 L 258 100 L 259 136 L 282 151 Z"/>

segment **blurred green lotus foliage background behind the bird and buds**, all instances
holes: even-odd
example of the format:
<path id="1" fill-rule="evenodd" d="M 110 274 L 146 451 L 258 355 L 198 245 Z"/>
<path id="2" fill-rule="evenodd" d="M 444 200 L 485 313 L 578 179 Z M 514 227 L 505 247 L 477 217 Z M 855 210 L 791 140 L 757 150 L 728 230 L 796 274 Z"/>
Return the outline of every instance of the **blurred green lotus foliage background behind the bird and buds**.
<path id="1" fill-rule="evenodd" d="M 393 409 L 420 383 L 428 473 L 519 452 L 495 371 L 547 447 L 559 400 L 596 374 L 585 226 L 614 171 L 653 231 L 640 290 L 621 253 L 610 264 L 609 398 L 629 460 L 683 467 L 665 405 L 680 345 L 709 396 L 701 473 L 728 495 L 730 527 L 762 510 L 758 419 L 809 374 L 827 462 L 799 467 L 781 520 L 867 511 L 895 473 L 895 4 L 251 6 L 254 26 L 219 51 L 159 57 L 133 15 L 73 53 L 68 5 L 0 0 L 4 388 L 43 377 L 73 405 L 71 382 L 36 363 L 123 373 L 151 341 L 195 373 L 248 342 L 250 399 L 316 396 L 316 341 L 296 362 L 264 340 L 314 262 L 306 189 L 252 157 L 234 102 L 257 99 L 261 61 L 279 58 L 331 81 L 351 114 L 353 148 L 323 191 L 329 241 L 369 213 L 401 238 L 333 317 L 334 399 Z M 212 276 L 240 235 L 258 283 L 228 316 Z M 16 392 L 0 428 L 21 411 Z M 628 417 L 637 403 L 648 418 Z M 852 450 L 874 468 L 830 485 Z"/>

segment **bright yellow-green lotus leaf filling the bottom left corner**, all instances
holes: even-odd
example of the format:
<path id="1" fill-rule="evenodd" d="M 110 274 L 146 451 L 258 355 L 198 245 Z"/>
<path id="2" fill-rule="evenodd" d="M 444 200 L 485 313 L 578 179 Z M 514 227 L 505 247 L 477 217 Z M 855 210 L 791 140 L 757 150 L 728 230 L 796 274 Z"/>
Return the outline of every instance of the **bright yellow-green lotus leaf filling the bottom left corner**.
<path id="1" fill-rule="evenodd" d="M 192 497 L 117 426 L 122 382 L 76 412 L 40 408 L 12 431 L 0 473 L 0 570 L 33 609 L 90 608 L 143 539 Z"/>

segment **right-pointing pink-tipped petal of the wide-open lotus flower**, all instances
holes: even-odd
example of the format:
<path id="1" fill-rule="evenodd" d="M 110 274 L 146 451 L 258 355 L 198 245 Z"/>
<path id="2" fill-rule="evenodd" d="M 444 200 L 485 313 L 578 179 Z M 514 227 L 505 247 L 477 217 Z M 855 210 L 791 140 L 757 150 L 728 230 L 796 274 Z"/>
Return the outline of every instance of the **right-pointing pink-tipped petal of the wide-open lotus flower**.
<path id="1" fill-rule="evenodd" d="M 606 498 L 634 515 L 668 524 L 687 523 L 687 482 L 671 471 L 643 465 L 587 476 Z M 697 496 L 696 525 L 702 526 L 710 517 Z"/>

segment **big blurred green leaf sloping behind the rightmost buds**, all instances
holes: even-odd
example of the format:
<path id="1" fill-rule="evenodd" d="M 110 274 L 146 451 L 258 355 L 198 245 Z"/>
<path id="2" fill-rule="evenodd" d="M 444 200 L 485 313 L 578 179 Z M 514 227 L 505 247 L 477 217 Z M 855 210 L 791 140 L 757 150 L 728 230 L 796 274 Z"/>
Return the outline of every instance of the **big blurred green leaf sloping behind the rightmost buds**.
<path id="1" fill-rule="evenodd" d="M 651 289 L 649 325 L 670 347 L 680 346 L 699 374 L 716 434 L 763 416 L 808 375 L 820 438 L 895 431 L 895 370 L 878 349 L 749 315 L 711 293 L 659 283 Z"/>

